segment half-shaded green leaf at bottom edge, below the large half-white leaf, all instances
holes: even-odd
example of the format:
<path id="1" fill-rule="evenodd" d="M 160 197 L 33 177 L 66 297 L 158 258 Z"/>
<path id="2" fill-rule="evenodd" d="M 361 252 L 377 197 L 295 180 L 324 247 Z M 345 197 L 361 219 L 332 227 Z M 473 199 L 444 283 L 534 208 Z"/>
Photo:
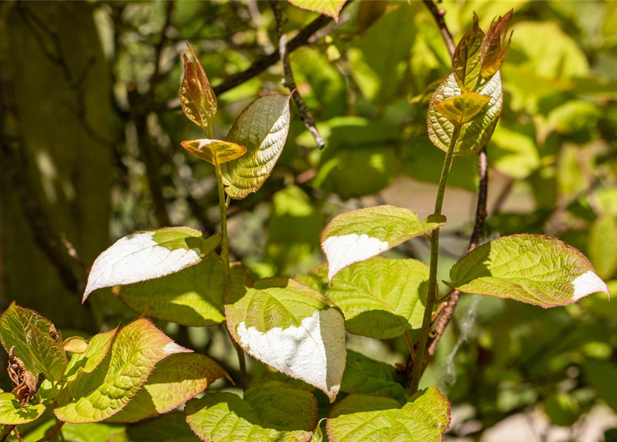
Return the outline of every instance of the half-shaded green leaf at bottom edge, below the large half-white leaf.
<path id="1" fill-rule="evenodd" d="M 308 441 L 317 425 L 317 401 L 305 390 L 269 382 L 245 392 L 206 394 L 184 408 L 191 429 L 211 442 Z"/>

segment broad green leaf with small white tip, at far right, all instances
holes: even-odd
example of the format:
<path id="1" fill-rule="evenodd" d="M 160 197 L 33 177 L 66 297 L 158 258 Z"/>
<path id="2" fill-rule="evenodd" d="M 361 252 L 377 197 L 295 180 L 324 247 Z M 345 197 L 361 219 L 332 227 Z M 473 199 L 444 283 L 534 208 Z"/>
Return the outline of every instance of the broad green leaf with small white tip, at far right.
<path id="1" fill-rule="evenodd" d="M 549 308 L 568 305 L 607 285 L 574 247 L 549 236 L 511 235 L 482 244 L 450 270 L 452 287 Z"/>

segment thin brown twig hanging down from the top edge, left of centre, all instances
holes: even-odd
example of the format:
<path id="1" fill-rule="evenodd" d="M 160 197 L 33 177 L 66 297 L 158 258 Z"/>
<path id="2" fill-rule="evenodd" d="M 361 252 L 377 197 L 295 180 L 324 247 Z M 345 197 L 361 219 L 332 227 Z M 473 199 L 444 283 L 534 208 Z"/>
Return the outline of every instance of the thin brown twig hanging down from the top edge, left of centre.
<path id="1" fill-rule="evenodd" d="M 283 32 L 283 25 L 285 24 L 285 14 L 281 5 L 278 4 L 278 0 L 270 0 L 270 6 L 274 11 L 274 19 L 276 20 L 276 33 L 278 34 L 278 53 L 281 55 L 281 64 L 283 64 L 283 73 L 284 79 L 283 85 L 289 89 L 289 92 L 292 93 L 292 97 L 294 98 L 294 102 L 296 106 L 298 106 L 298 111 L 300 111 L 300 117 L 304 122 L 304 125 L 307 128 L 307 131 L 315 139 L 315 144 L 317 148 L 323 149 L 325 146 L 325 141 L 323 141 L 323 137 L 317 130 L 315 126 L 315 122 L 313 121 L 313 117 L 311 116 L 302 95 L 298 92 L 298 88 L 296 88 L 296 81 L 294 81 L 294 73 L 292 72 L 292 65 L 289 62 L 289 53 L 287 52 L 287 35 Z"/>

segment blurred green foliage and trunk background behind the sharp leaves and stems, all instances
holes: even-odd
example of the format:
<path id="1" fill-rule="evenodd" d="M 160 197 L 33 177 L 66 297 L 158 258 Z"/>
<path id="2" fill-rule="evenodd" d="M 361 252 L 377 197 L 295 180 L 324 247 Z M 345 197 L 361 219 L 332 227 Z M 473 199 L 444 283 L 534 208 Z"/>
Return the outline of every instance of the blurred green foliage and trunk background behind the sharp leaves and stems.
<path id="1" fill-rule="evenodd" d="M 426 136 L 426 106 L 450 70 L 439 30 L 421 1 L 348 3 L 291 55 L 326 148 L 294 108 L 272 177 L 229 209 L 231 254 L 256 277 L 323 262 L 319 232 L 337 213 L 387 202 L 424 218 L 433 206 L 444 153 Z M 562 238 L 617 291 L 617 2 L 439 7 L 456 41 L 474 11 L 485 29 L 515 11 L 504 110 L 488 144 L 485 239 Z M 285 12 L 290 38 L 318 17 Z M 136 229 L 218 225 L 213 170 L 180 148 L 201 136 L 179 110 L 184 41 L 216 90 L 275 50 L 272 10 L 256 0 L 4 0 L 0 35 L 2 308 L 15 299 L 73 334 L 113 327 L 135 314 L 110 292 L 79 304 L 97 253 Z M 286 93 L 281 64 L 266 67 L 218 95 L 215 137 L 260 93 Z M 471 234 L 475 158 L 457 157 L 448 184 L 440 279 Z M 389 256 L 426 261 L 428 242 Z M 159 325 L 237 369 L 221 327 Z M 392 364 L 406 358 L 402 338 L 348 345 Z M 464 296 L 423 383 L 453 403 L 450 441 L 617 441 L 616 346 L 617 305 L 602 296 L 551 310 Z"/>

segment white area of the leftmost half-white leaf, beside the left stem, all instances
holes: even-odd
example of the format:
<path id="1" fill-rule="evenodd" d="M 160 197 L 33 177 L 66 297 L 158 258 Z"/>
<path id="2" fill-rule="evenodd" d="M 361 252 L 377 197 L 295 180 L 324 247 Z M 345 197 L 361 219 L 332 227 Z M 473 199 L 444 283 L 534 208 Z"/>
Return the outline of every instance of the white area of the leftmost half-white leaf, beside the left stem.
<path id="1" fill-rule="evenodd" d="M 160 278 L 200 262 L 199 249 L 161 247 L 153 240 L 155 233 L 132 233 L 101 253 L 88 275 L 82 303 L 96 289 Z"/>

